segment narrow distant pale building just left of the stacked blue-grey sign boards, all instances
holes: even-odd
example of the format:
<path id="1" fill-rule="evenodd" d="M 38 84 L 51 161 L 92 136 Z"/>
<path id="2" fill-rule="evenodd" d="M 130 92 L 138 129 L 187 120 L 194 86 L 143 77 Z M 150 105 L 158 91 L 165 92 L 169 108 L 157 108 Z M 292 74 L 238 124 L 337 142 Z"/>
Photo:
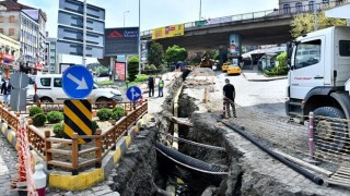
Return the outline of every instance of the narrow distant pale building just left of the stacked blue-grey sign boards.
<path id="1" fill-rule="evenodd" d="M 56 50 L 57 38 L 46 38 L 46 63 L 49 73 L 59 73 L 58 54 Z"/>

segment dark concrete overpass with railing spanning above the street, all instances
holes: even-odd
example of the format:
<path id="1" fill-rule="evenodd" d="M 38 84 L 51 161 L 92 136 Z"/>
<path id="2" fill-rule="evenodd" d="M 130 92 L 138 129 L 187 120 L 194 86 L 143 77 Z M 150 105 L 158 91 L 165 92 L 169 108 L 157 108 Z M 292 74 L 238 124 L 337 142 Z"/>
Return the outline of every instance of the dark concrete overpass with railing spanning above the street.
<path id="1" fill-rule="evenodd" d="M 338 5 L 339 2 L 320 3 L 317 12 Z M 245 14 L 212 19 L 205 25 L 197 22 L 185 23 L 185 35 L 154 39 L 163 45 L 178 45 L 188 50 L 228 48 L 230 35 L 238 34 L 242 45 L 275 45 L 285 44 L 291 37 L 291 21 L 300 13 L 314 12 L 310 5 L 294 7 L 283 10 L 267 10 Z M 208 21 L 207 21 L 208 22 Z M 151 40 L 152 30 L 141 32 L 142 40 Z"/>

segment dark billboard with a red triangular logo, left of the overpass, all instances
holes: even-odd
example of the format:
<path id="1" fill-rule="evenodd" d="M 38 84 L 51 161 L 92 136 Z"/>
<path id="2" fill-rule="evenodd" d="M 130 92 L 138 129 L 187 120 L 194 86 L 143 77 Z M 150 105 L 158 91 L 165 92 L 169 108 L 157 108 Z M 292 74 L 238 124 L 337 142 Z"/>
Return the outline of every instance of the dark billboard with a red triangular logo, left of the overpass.
<path id="1" fill-rule="evenodd" d="M 106 28 L 105 57 L 139 53 L 139 27 Z"/>

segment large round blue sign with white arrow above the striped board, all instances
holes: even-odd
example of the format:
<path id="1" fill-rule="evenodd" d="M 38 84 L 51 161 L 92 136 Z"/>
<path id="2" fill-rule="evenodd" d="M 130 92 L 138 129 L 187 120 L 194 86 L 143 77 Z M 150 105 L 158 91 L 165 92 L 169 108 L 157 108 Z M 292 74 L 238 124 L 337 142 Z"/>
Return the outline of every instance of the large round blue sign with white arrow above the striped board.
<path id="1" fill-rule="evenodd" d="M 84 65 L 73 65 L 63 72 L 62 88 L 66 95 L 72 99 L 88 97 L 93 86 L 93 76 Z"/>

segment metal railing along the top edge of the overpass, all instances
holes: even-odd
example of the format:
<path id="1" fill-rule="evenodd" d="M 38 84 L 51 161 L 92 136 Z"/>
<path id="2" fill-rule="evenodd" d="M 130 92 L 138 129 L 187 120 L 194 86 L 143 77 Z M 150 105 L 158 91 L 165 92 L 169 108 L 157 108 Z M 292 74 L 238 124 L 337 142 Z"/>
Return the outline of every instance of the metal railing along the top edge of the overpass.
<path id="1" fill-rule="evenodd" d="M 276 17 L 276 16 L 292 16 L 294 14 L 314 12 L 315 11 L 314 9 L 317 9 L 317 12 L 319 12 L 322 10 L 326 10 L 326 9 L 346 4 L 346 3 L 348 3 L 348 1 L 329 1 L 327 3 L 285 7 L 282 9 L 265 10 L 265 11 L 258 11 L 258 12 L 244 13 L 244 14 L 229 15 L 223 17 L 214 17 L 214 19 L 203 20 L 203 21 L 188 22 L 188 23 L 185 23 L 185 30 L 199 28 L 202 26 L 209 27 L 209 26 L 214 26 L 223 23 L 244 22 L 244 21 L 252 21 L 252 20 L 254 21 L 258 19 L 268 19 L 268 17 Z M 141 34 L 141 37 L 152 36 L 152 29 L 141 32 L 140 34 Z"/>

